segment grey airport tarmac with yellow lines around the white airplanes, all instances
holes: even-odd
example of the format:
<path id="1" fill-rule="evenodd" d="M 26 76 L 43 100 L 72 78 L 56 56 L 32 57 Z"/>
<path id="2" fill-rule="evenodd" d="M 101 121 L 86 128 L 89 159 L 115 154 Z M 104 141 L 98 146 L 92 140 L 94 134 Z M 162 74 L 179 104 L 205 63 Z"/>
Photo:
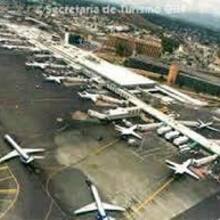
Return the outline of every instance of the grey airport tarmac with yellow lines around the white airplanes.
<path id="1" fill-rule="evenodd" d="M 112 124 L 73 120 L 72 113 L 92 105 L 78 97 L 80 87 L 47 83 L 24 63 L 24 54 L 0 51 L 0 136 L 9 133 L 21 146 L 44 147 L 46 159 L 30 167 L 16 159 L 0 166 L 0 219 L 95 219 L 73 214 L 92 202 L 86 178 L 104 201 L 127 209 L 113 213 L 121 220 L 171 219 L 219 191 L 210 179 L 173 178 L 164 161 L 183 158 L 155 132 L 147 132 L 135 148 Z M 3 138 L 0 149 L 10 150 Z"/>

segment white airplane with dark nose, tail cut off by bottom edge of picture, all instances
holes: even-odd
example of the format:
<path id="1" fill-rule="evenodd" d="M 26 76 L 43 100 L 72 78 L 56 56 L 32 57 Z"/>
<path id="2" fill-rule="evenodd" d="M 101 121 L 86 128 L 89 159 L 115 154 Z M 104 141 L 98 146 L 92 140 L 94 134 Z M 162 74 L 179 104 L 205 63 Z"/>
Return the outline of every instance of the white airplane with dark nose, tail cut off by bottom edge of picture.
<path id="1" fill-rule="evenodd" d="M 114 218 L 107 215 L 106 211 L 118 211 L 124 212 L 125 209 L 119 206 L 103 203 L 100 199 L 97 188 L 93 185 L 90 180 L 86 180 L 89 188 L 91 189 L 94 203 L 84 206 L 74 212 L 75 215 L 85 214 L 89 212 L 97 212 L 97 220 L 114 220 Z"/>

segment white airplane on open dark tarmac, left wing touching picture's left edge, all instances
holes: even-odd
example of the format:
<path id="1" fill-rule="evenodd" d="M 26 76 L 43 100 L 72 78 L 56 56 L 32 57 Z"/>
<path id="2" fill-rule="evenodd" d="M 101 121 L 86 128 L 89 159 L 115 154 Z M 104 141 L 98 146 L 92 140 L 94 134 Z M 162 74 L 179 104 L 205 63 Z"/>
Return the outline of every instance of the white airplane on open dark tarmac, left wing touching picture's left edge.
<path id="1" fill-rule="evenodd" d="M 4 136 L 5 140 L 14 148 L 13 151 L 8 153 L 6 156 L 0 158 L 0 163 L 10 160 L 14 157 L 20 157 L 20 160 L 28 164 L 32 162 L 35 159 L 43 159 L 43 156 L 31 156 L 29 154 L 39 153 L 45 151 L 43 148 L 21 148 L 14 140 L 13 138 L 6 134 Z"/>

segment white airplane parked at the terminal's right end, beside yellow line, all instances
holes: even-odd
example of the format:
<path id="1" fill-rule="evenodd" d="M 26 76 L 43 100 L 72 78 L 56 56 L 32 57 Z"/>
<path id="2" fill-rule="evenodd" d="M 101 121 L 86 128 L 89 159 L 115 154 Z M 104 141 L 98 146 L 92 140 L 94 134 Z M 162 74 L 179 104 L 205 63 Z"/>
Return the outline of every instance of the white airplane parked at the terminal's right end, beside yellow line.
<path id="1" fill-rule="evenodd" d="M 188 159 L 187 161 L 183 162 L 182 164 L 178 164 L 178 163 L 172 162 L 170 160 L 166 160 L 166 164 L 171 170 L 174 170 L 175 174 L 186 173 L 197 180 L 200 179 L 199 176 L 197 176 L 194 172 L 192 172 L 189 169 L 189 166 L 191 166 L 193 164 L 193 159 Z"/>

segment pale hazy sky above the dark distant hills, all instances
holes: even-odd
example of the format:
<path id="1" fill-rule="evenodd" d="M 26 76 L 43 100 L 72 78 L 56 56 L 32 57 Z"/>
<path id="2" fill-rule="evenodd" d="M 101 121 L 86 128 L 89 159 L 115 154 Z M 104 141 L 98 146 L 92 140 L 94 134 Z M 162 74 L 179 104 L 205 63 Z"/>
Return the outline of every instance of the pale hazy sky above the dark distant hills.
<path id="1" fill-rule="evenodd" d="M 112 0 L 116 1 L 116 0 Z M 220 15 L 220 0 L 117 0 L 126 4 L 151 7 L 176 7 L 184 11 Z"/>

